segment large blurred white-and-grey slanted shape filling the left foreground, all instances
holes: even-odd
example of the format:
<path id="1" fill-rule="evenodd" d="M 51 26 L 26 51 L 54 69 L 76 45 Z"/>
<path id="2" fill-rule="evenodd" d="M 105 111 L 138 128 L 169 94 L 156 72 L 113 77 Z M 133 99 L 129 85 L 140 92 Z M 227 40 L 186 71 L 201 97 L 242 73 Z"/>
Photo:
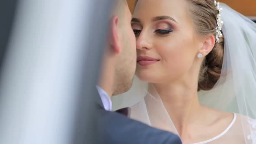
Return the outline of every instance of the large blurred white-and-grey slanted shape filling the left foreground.
<path id="1" fill-rule="evenodd" d="M 95 144 L 112 2 L 0 0 L 0 144 Z"/>

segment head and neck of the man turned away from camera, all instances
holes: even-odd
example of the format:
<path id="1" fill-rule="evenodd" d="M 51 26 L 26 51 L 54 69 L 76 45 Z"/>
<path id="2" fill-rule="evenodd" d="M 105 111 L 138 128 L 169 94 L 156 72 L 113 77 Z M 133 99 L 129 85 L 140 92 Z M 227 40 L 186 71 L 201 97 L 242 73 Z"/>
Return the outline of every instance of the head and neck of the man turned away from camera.
<path id="1" fill-rule="evenodd" d="M 131 12 L 126 0 L 114 0 L 110 17 L 100 86 L 109 95 L 118 95 L 131 88 L 136 68 L 136 38 L 131 28 Z M 104 78 L 108 76 L 108 78 Z M 104 82 L 108 79 L 108 82 Z M 111 85 L 111 86 L 109 86 Z M 104 89 L 104 88 L 103 88 Z"/>

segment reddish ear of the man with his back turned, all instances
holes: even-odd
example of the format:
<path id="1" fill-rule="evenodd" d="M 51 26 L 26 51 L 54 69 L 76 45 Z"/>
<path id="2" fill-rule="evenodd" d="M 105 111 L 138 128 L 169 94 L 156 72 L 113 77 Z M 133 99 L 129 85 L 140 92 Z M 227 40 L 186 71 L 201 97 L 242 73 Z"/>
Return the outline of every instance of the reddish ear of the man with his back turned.
<path id="1" fill-rule="evenodd" d="M 118 34 L 118 16 L 114 15 L 110 20 L 110 32 L 109 32 L 109 43 L 111 46 L 111 51 L 116 54 L 121 52 L 120 38 Z"/>

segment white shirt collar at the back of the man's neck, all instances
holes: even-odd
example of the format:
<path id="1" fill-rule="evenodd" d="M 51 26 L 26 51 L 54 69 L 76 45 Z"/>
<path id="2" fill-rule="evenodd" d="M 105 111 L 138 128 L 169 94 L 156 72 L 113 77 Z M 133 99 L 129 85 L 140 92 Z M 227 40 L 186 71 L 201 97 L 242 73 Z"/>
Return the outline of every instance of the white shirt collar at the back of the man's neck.
<path id="1" fill-rule="evenodd" d="M 112 101 L 108 95 L 107 92 L 105 92 L 102 88 L 100 88 L 98 85 L 96 86 L 98 90 L 98 94 L 100 98 L 102 99 L 103 106 L 106 111 L 112 111 Z"/>

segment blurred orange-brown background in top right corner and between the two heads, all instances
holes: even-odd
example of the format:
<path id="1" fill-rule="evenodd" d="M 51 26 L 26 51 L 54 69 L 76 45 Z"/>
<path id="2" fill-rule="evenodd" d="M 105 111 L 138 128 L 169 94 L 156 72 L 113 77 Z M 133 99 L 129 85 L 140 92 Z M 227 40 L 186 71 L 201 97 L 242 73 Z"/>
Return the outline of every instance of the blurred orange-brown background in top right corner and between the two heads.
<path id="1" fill-rule="evenodd" d="M 134 10 L 136 0 L 127 0 L 131 12 Z M 248 16 L 251 20 L 256 22 L 256 0 L 218 0 L 226 3 L 234 10 Z"/>

